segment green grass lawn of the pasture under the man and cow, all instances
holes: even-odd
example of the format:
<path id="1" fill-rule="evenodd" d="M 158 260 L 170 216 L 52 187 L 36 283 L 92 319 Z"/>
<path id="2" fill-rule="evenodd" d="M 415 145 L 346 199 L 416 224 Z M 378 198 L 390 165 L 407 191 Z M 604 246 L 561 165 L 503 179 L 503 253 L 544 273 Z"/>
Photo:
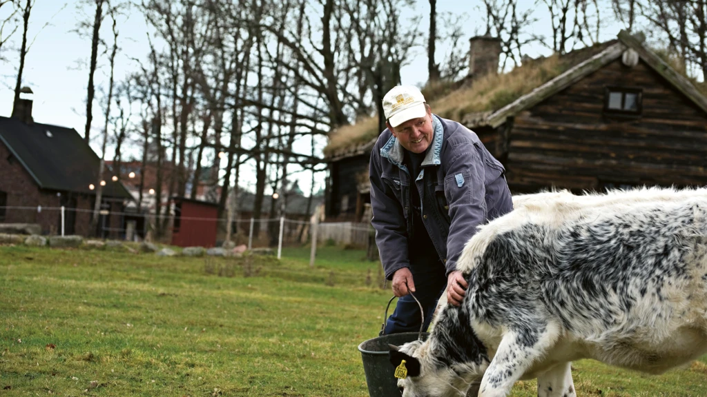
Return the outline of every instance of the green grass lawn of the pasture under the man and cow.
<path id="1" fill-rule="evenodd" d="M 0 247 L 0 396 L 367 396 L 356 346 L 391 294 L 363 251 L 325 247 L 313 269 L 308 253 Z M 573 367 L 580 396 L 707 395 L 704 359 L 661 377 Z"/>

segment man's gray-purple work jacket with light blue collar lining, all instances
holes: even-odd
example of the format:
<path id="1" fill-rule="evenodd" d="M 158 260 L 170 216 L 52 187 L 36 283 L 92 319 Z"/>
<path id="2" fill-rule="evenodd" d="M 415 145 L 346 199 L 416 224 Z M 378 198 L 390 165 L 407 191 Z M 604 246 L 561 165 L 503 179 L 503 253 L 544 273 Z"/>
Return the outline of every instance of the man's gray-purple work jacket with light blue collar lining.
<path id="1" fill-rule="evenodd" d="M 433 128 L 433 141 L 414 183 L 423 224 L 449 274 L 477 226 L 508 213 L 513 202 L 503 176 L 506 170 L 477 134 L 436 115 Z M 410 267 L 411 176 L 402 163 L 404 150 L 385 129 L 370 153 L 375 242 L 388 280 L 399 268 Z"/>

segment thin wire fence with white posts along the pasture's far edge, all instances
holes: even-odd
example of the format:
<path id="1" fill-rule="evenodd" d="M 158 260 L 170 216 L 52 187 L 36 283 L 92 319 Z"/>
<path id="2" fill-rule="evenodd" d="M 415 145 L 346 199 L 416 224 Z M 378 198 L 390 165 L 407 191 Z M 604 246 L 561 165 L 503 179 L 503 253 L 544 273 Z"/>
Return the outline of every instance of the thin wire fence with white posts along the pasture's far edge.
<path id="1" fill-rule="evenodd" d="M 306 215 L 256 219 L 236 213 L 229 221 L 228 218 L 214 216 L 139 213 L 125 209 L 111 211 L 103 208 L 99 211 L 96 229 L 92 229 L 93 212 L 88 208 L 66 206 L 0 206 L 0 224 L 6 229 L 25 227 L 28 232 L 42 235 L 156 241 L 182 247 L 214 247 L 228 241 L 246 245 L 247 249 L 277 247 L 278 258 L 283 246 L 310 243 L 312 263 L 318 244 L 342 244 L 368 249 L 369 252 L 373 248 L 371 244 L 375 246 L 370 224 L 320 223 L 316 216 L 311 219 Z M 375 252 L 377 256 L 377 250 Z"/>

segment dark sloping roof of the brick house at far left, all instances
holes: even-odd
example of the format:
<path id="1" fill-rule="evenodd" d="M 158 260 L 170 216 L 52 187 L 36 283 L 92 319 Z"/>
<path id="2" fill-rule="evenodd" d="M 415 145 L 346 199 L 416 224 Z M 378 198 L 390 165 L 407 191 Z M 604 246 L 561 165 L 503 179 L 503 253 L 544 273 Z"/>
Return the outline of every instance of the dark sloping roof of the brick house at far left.
<path id="1" fill-rule="evenodd" d="M 0 142 L 40 188 L 95 194 L 88 185 L 98 181 L 100 158 L 75 129 L 0 117 Z M 119 182 L 110 177 L 105 182 L 103 196 L 132 199 Z"/>

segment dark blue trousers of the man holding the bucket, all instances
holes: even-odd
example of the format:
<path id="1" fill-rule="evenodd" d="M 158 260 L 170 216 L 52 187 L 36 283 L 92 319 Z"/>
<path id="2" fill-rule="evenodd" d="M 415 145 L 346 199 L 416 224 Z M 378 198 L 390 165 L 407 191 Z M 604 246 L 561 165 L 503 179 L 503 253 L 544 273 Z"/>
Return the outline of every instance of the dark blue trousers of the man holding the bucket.
<path id="1" fill-rule="evenodd" d="M 427 263 L 427 266 L 430 266 Z M 432 315 L 437 307 L 437 301 L 447 288 L 447 276 L 445 267 L 438 262 L 432 268 L 425 271 L 415 271 L 411 268 L 412 280 L 415 283 L 413 292 L 417 300 L 422 304 L 424 310 L 424 325 L 422 331 L 427 331 L 432 321 Z M 420 307 L 411 295 L 405 295 L 398 299 L 395 312 L 390 315 L 385 323 L 385 335 L 389 333 L 418 332 L 422 316 Z"/>

